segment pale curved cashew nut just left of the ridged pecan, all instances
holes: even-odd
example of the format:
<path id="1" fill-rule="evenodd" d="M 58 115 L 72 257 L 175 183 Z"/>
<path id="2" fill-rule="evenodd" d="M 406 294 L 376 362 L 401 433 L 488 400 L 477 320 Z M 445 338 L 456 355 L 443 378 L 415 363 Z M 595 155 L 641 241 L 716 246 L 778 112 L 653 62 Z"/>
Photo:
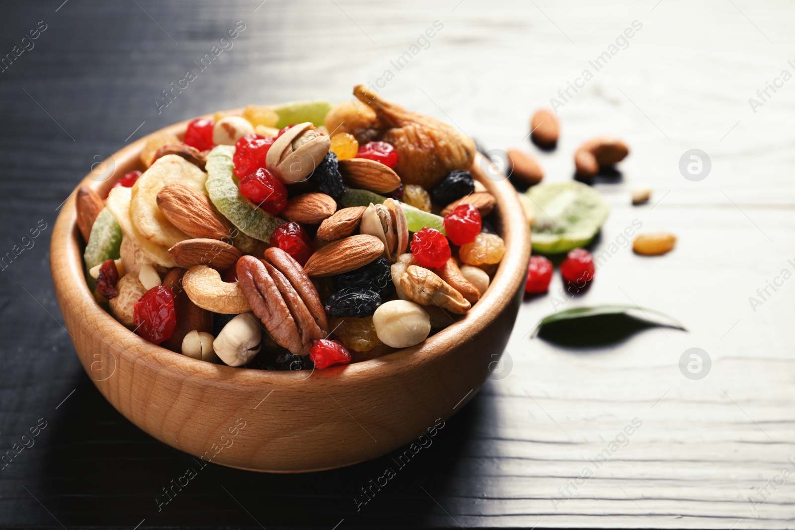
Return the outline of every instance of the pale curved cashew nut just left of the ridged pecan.
<path id="1" fill-rule="evenodd" d="M 182 278 L 182 287 L 194 304 L 207 311 L 223 315 L 251 311 L 238 283 L 223 281 L 218 271 L 207 265 L 194 265 L 188 269 Z"/>

